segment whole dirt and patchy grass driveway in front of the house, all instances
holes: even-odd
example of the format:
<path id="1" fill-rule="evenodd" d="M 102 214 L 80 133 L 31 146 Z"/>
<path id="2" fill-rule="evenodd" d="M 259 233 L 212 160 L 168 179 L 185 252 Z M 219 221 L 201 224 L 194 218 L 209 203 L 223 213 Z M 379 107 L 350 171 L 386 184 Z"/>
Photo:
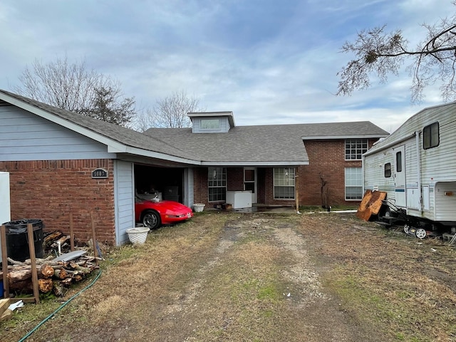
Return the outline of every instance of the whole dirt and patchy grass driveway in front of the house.
<path id="1" fill-rule="evenodd" d="M 27 341 L 455 341 L 454 257 L 354 214 L 206 212 L 113 251 Z"/>

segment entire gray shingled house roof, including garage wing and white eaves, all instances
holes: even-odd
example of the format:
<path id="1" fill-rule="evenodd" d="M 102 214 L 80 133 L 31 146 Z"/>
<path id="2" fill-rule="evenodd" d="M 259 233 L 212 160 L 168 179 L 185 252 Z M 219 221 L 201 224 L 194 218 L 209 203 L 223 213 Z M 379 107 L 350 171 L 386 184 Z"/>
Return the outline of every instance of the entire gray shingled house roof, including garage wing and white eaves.
<path id="1" fill-rule="evenodd" d="M 39 110 L 43 110 L 110 141 L 160 153 L 164 160 L 168 160 L 167 156 L 179 157 L 197 165 L 306 165 L 309 157 L 303 139 L 384 138 L 388 135 L 368 121 L 237 126 L 228 133 L 192 133 L 192 128 L 150 128 L 138 133 L 5 90 L 0 90 L 0 99 L 38 115 Z M 135 153 L 141 155 L 138 150 Z"/>

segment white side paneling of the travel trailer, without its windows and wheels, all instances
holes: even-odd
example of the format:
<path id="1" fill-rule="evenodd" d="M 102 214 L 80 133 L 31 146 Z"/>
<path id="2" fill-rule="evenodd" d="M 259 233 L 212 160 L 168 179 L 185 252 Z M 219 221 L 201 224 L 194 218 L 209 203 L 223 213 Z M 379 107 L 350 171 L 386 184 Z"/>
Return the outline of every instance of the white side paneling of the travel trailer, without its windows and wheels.
<path id="1" fill-rule="evenodd" d="M 423 128 L 435 122 L 439 123 L 439 145 L 424 150 Z M 415 132 L 418 132 L 418 144 L 416 137 L 411 136 Z M 455 133 L 456 103 L 426 108 L 413 115 L 364 156 L 365 188 L 372 189 L 378 185 L 379 190 L 388 192 L 388 198 L 393 197 L 393 177 L 385 179 L 383 168 L 378 165 L 385 162 L 393 165 L 393 149 L 405 145 L 408 214 L 437 222 L 456 222 Z M 442 195 L 445 192 L 455 195 Z"/>

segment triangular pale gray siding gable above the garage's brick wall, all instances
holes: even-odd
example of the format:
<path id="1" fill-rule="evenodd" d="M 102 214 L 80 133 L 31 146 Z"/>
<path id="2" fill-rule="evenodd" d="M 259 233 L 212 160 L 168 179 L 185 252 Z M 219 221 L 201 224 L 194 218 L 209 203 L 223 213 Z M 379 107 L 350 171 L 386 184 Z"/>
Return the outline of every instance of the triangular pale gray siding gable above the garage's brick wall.
<path id="1" fill-rule="evenodd" d="M 0 160 L 114 158 L 100 142 L 12 105 L 0 106 Z"/>

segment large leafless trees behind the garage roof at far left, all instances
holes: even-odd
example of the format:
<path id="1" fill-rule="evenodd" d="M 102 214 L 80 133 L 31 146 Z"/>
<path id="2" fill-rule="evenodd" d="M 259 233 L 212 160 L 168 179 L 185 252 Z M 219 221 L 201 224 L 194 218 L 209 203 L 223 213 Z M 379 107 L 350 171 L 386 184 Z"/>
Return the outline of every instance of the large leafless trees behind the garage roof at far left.
<path id="1" fill-rule="evenodd" d="M 20 95 L 100 120 L 110 117 L 108 122 L 127 125 L 134 113 L 134 98 L 122 99 L 120 84 L 88 70 L 85 61 L 69 63 L 65 57 L 46 64 L 35 60 L 31 68 L 25 68 L 19 81 L 21 86 L 14 87 L 14 91 Z M 107 105 L 110 115 L 100 112 Z"/>

